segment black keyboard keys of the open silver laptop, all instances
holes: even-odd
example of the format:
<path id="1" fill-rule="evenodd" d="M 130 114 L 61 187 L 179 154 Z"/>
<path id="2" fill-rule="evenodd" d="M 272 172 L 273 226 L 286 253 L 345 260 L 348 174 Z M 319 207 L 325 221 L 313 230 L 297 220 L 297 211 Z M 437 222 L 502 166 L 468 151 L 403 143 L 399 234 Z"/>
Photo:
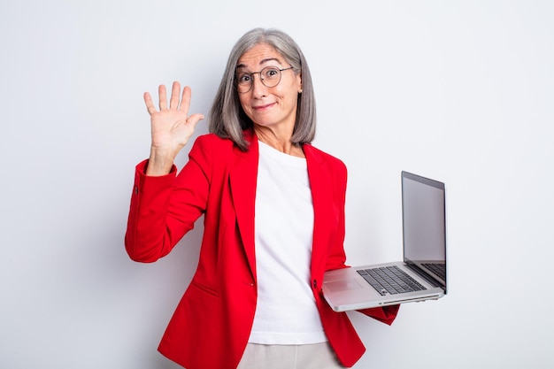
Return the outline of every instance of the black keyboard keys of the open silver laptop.
<path id="1" fill-rule="evenodd" d="M 360 269 L 358 273 L 381 294 L 396 295 L 427 289 L 396 265 Z"/>

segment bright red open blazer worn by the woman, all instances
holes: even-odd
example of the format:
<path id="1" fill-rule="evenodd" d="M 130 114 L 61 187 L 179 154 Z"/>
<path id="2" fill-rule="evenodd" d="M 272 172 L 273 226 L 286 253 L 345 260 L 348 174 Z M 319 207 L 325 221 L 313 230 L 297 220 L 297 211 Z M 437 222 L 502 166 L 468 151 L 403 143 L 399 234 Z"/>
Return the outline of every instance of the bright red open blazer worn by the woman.
<path id="1" fill-rule="evenodd" d="M 125 245 L 135 261 L 153 262 L 168 254 L 204 215 L 204 239 L 189 288 L 173 314 L 158 350 L 187 369 L 235 369 L 248 343 L 256 311 L 254 202 L 258 139 L 247 152 L 216 135 L 196 139 L 189 162 L 163 177 L 137 165 Z M 344 200 L 346 167 L 337 158 L 305 144 L 312 188 L 313 296 L 327 339 L 342 365 L 352 366 L 365 347 L 345 313 L 321 295 L 323 273 L 345 267 Z M 397 306 L 362 311 L 391 324 Z"/>

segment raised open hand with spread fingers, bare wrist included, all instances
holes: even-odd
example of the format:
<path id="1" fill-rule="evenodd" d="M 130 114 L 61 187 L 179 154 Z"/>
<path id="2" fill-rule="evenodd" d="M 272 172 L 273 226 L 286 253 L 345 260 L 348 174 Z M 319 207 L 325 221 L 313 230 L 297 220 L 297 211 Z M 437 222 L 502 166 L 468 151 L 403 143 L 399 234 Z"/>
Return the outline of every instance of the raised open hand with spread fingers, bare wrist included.
<path id="1" fill-rule="evenodd" d="M 152 135 L 147 175 L 169 173 L 173 160 L 193 135 L 196 123 L 204 119 L 203 114 L 189 116 L 191 95 L 189 87 L 183 88 L 181 96 L 181 84 L 177 81 L 173 82 L 169 107 L 164 85 L 159 86 L 158 95 L 159 111 L 154 106 L 150 94 L 144 93 L 144 103 L 150 113 Z"/>

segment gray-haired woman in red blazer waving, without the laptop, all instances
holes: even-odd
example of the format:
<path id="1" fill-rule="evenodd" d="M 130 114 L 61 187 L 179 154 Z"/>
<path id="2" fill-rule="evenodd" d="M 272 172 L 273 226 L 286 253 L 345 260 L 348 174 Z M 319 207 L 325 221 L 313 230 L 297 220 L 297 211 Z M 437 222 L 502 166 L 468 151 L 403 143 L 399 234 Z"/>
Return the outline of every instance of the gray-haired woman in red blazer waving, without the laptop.
<path id="1" fill-rule="evenodd" d="M 173 160 L 202 114 L 190 88 L 150 94 L 150 158 L 137 165 L 125 238 L 130 258 L 168 254 L 204 215 L 196 273 L 158 350 L 187 369 L 325 369 L 364 345 L 321 295 L 345 267 L 346 167 L 310 142 L 312 80 L 289 35 L 253 29 L 235 44 L 210 112 L 177 173 Z M 397 306 L 362 311 L 391 324 Z"/>

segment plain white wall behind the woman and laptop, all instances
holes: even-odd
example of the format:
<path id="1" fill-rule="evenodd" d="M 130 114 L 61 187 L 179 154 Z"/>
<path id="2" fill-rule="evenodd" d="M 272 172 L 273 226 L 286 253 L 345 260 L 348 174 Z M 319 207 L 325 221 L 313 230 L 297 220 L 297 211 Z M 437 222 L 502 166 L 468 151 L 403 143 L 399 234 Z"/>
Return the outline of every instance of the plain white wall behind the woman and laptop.
<path id="1" fill-rule="evenodd" d="M 552 19 L 547 0 L 2 0 L 0 367 L 178 367 L 156 349 L 202 225 L 155 264 L 127 258 L 142 93 L 178 80 L 207 114 L 252 27 L 309 61 L 314 144 L 349 167 L 350 265 L 401 258 L 400 171 L 447 186 L 449 295 L 392 327 L 350 313 L 355 367 L 554 366 Z"/>

